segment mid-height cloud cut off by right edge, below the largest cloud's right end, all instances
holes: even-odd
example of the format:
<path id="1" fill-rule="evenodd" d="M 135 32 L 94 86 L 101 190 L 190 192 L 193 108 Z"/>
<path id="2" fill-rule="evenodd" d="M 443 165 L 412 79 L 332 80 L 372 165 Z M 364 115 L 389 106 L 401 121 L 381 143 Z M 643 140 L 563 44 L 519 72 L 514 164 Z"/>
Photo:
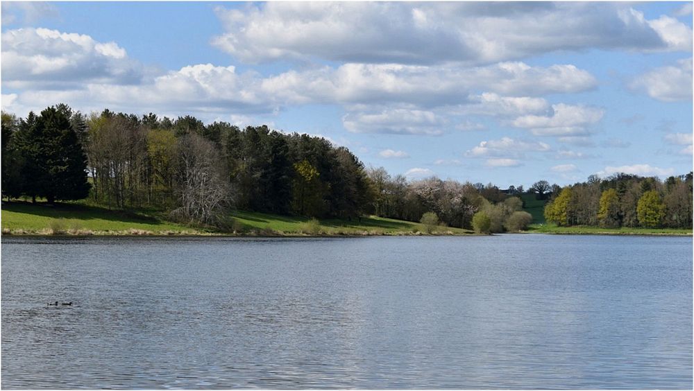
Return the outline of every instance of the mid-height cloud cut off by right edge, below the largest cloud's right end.
<path id="1" fill-rule="evenodd" d="M 644 89 L 651 98 L 659 101 L 691 101 L 692 59 L 679 60 L 675 65 L 646 72 L 632 80 L 629 87 Z"/>

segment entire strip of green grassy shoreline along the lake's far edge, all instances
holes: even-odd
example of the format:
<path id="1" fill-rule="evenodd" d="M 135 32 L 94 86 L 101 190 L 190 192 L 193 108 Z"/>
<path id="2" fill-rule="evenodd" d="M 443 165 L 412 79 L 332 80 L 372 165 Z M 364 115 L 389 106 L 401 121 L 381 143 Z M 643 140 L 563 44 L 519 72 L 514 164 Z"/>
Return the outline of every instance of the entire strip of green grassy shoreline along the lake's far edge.
<path id="1" fill-rule="evenodd" d="M 229 237 L 345 238 L 365 236 L 486 236 L 469 229 L 424 225 L 406 220 L 362 216 L 350 219 L 310 219 L 251 211 L 232 211 L 223 229 L 172 223 L 159 214 L 113 211 L 83 205 L 44 207 L 3 204 L 3 236 L 51 237 Z M 509 232 L 511 233 L 511 232 Z M 691 229 L 534 224 L 520 234 L 692 236 Z"/>

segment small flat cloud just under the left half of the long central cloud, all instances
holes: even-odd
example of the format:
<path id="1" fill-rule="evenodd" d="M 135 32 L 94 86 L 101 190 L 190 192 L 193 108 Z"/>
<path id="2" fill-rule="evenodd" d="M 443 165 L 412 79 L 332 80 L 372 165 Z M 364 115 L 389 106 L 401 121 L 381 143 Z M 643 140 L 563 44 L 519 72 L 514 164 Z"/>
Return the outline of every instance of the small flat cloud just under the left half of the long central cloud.
<path id="1" fill-rule="evenodd" d="M 342 118 L 342 123 L 354 133 L 437 135 L 443 132 L 445 121 L 430 111 L 387 109 L 374 113 L 348 113 Z"/>

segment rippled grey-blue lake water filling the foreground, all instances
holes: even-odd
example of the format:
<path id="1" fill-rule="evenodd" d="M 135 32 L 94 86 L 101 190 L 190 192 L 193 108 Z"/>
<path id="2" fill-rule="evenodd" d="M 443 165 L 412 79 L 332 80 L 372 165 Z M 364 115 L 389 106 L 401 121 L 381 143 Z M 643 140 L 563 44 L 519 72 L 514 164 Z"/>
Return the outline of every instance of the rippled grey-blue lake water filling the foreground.
<path id="1" fill-rule="evenodd" d="M 692 330 L 691 237 L 2 241 L 2 388 L 691 389 Z"/>

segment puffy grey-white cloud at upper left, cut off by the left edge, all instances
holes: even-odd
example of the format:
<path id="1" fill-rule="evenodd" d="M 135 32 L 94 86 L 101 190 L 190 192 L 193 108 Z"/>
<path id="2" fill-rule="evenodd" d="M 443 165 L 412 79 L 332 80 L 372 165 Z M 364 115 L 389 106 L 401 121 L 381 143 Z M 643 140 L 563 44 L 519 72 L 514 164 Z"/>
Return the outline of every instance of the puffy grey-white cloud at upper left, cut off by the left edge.
<path id="1" fill-rule="evenodd" d="M 3 85 L 10 87 L 130 84 L 142 78 L 142 66 L 115 42 L 47 28 L 8 30 L 1 40 Z"/>

